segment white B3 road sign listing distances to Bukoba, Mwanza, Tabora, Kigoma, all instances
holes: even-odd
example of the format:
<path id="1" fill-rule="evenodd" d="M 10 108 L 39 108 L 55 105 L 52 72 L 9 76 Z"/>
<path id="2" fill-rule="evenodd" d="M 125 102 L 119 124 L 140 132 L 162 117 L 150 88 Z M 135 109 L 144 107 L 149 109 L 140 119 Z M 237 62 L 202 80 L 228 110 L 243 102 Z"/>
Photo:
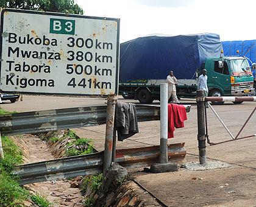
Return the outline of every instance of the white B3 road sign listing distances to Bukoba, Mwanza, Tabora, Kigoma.
<path id="1" fill-rule="evenodd" d="M 118 94 L 119 19 L 3 9 L 0 41 L 4 92 Z"/>

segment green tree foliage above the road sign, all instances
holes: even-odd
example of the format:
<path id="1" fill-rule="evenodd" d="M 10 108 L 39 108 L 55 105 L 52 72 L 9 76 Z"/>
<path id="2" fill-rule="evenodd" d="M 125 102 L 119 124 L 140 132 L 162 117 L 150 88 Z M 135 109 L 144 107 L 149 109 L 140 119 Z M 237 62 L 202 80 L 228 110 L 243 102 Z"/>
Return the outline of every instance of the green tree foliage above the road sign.
<path id="1" fill-rule="evenodd" d="M 0 0 L 0 7 L 37 10 L 44 12 L 62 12 L 82 15 L 84 11 L 74 0 Z"/>

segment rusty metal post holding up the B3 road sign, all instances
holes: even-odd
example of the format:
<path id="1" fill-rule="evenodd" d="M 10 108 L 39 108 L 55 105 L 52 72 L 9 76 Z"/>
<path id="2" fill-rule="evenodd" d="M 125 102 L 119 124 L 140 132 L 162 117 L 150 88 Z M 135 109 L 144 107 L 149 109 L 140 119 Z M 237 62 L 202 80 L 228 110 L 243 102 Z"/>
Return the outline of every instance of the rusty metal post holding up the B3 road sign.
<path id="1" fill-rule="evenodd" d="M 107 97 L 107 118 L 106 118 L 103 175 L 105 175 L 106 170 L 111 166 L 111 162 L 112 162 L 115 105 L 116 105 L 116 96 L 109 95 Z"/>

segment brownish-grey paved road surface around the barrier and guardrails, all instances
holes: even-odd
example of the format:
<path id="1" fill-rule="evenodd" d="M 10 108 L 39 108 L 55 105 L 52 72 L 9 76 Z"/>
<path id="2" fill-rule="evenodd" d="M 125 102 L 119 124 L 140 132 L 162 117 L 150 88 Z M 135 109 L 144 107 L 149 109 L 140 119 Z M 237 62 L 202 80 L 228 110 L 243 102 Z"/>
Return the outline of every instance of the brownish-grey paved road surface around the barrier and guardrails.
<path id="1" fill-rule="evenodd" d="M 123 100 L 121 99 L 121 101 Z M 34 111 L 104 102 L 104 99 L 84 97 L 24 96 L 23 102 L 4 103 L 1 107 L 9 111 Z M 132 102 L 134 101 L 132 100 Z M 187 103 L 191 100 L 183 100 L 183 102 Z M 256 107 L 255 102 L 244 102 L 241 105 L 225 103 L 214 108 L 233 135 L 236 135 L 254 107 Z M 169 143 L 186 143 L 187 161 L 198 160 L 196 115 L 196 105 L 193 104 L 190 113 L 188 113 L 185 128 L 176 129 L 175 138 L 168 140 Z M 219 142 L 231 139 L 210 109 L 208 109 L 207 116 L 210 141 Z M 255 122 L 256 116 L 254 114 L 241 136 L 256 134 Z M 123 142 L 118 142 L 117 147 L 121 149 L 159 145 L 159 121 L 140 122 L 139 128 L 140 133 Z M 80 137 L 93 138 L 96 149 L 104 149 L 105 125 L 78 128 L 75 131 Z M 180 169 L 179 172 L 166 174 L 140 172 L 136 174 L 136 179 L 168 206 L 256 206 L 255 149 L 255 137 L 207 146 L 208 160 L 224 161 L 232 163 L 233 166 L 206 171 Z M 219 188 L 221 186 L 223 188 Z"/>

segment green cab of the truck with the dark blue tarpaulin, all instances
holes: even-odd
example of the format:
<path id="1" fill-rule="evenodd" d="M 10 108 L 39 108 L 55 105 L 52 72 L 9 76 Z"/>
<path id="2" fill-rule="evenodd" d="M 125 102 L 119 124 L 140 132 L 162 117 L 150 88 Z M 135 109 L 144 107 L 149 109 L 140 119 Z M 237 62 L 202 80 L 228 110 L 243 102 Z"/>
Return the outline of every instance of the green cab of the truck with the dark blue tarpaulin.
<path id="1" fill-rule="evenodd" d="M 254 77 L 245 57 L 207 58 L 208 96 L 253 96 Z"/>

